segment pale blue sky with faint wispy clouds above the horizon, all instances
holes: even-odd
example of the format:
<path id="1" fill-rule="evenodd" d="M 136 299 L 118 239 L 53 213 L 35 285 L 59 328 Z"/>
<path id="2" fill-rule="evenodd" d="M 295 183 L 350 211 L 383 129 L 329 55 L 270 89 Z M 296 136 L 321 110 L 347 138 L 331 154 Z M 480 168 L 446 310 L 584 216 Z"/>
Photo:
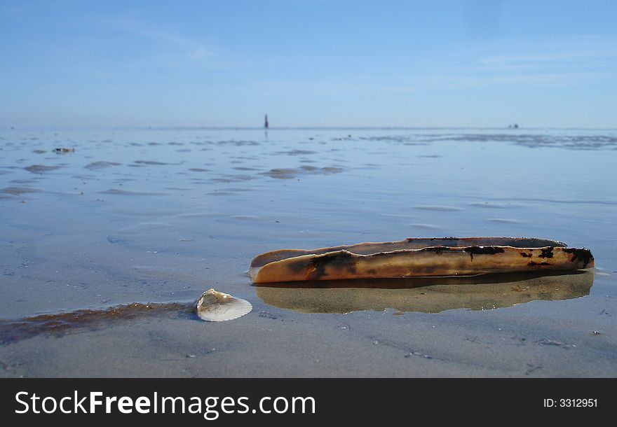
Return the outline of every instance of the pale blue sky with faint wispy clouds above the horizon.
<path id="1" fill-rule="evenodd" d="M 617 127 L 617 1 L 0 0 L 0 127 Z"/>

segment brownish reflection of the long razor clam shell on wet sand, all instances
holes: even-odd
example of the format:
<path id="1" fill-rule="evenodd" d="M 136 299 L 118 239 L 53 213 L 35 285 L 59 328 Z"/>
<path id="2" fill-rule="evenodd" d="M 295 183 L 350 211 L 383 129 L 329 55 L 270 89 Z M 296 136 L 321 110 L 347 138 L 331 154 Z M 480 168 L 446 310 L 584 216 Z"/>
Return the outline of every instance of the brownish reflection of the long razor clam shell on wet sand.
<path id="1" fill-rule="evenodd" d="M 351 311 L 438 313 L 450 309 L 494 309 L 534 300 L 569 300 L 589 295 L 592 272 L 486 274 L 473 277 L 358 279 L 259 285 L 266 304 L 302 313 Z"/>

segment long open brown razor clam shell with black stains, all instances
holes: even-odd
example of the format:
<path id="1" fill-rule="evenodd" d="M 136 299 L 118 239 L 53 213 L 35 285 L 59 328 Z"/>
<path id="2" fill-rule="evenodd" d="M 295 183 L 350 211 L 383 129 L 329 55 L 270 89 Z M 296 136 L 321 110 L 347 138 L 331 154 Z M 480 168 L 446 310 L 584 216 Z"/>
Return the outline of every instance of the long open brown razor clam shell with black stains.
<path id="1" fill-rule="evenodd" d="M 443 246 L 436 246 L 440 244 Z M 490 245 L 485 246 L 487 244 Z M 407 239 L 313 251 L 284 249 L 258 255 L 251 263 L 250 276 L 255 283 L 270 283 L 593 267 L 588 249 L 566 246 L 560 241 L 545 239 L 471 237 Z M 383 251 L 391 248 L 394 249 Z"/>

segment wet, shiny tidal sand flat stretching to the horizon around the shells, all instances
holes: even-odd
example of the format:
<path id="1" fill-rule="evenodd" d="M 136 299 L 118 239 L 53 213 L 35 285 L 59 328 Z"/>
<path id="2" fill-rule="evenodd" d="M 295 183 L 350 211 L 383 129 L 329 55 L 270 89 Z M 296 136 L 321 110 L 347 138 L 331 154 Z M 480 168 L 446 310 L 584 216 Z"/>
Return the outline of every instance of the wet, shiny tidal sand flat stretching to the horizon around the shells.
<path id="1" fill-rule="evenodd" d="M 617 131 L 0 130 L 0 148 L 0 376 L 617 375 Z M 278 248 L 445 236 L 557 239 L 596 268 L 246 275 Z M 182 308 L 210 287 L 252 312 Z"/>

